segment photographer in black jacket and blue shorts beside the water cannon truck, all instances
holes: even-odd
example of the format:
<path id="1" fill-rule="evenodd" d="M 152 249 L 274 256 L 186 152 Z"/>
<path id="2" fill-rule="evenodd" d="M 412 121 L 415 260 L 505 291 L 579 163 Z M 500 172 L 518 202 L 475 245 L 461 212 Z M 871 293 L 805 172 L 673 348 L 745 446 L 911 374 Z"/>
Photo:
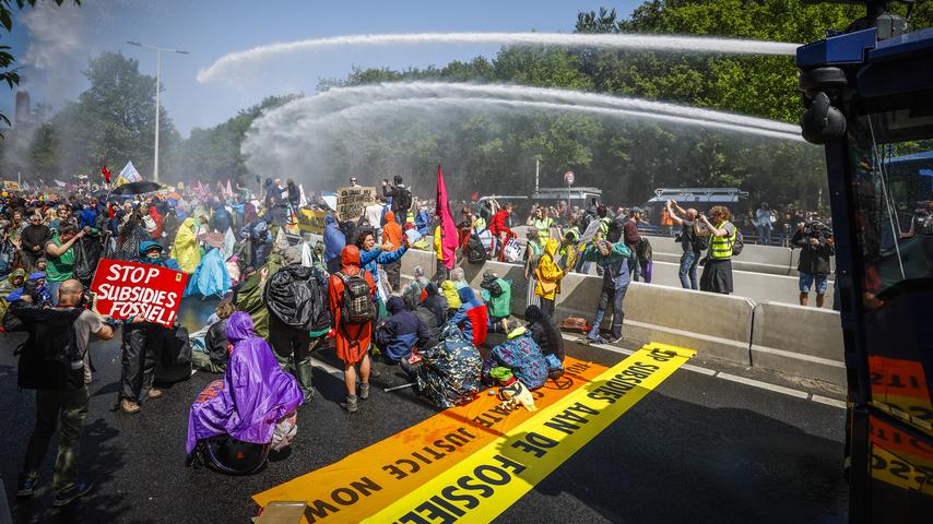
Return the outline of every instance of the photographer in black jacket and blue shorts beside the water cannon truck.
<path id="1" fill-rule="evenodd" d="M 798 224 L 791 246 L 800 248 L 800 305 L 810 302 L 810 289 L 816 285 L 816 307 L 825 302 L 826 287 L 829 281 L 829 258 L 836 254 L 832 230 L 819 221 Z"/>

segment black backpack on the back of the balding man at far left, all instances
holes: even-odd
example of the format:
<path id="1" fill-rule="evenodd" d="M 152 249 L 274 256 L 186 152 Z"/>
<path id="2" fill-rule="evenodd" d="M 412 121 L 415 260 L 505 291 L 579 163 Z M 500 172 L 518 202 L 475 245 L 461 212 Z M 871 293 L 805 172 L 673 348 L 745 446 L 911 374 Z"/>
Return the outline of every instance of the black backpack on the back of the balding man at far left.
<path id="1" fill-rule="evenodd" d="M 23 390 L 76 390 L 84 385 L 84 361 L 79 355 L 74 321 L 80 308 L 39 308 L 14 302 L 10 312 L 28 333 L 17 349 L 17 383 Z M 80 362 L 80 365 L 78 365 Z"/>

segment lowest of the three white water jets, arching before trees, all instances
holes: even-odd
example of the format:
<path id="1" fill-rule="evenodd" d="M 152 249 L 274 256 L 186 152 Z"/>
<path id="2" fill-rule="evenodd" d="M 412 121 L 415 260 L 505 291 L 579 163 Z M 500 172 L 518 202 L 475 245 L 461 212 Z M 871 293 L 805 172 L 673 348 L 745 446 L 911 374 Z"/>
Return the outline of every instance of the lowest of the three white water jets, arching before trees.
<path id="1" fill-rule="evenodd" d="M 302 102 L 302 100 L 296 100 Z M 300 110 L 300 106 L 294 106 L 296 103 L 287 104 L 277 108 L 267 116 L 257 120 L 256 124 L 258 124 L 258 130 L 260 133 L 263 128 L 265 129 L 281 129 L 280 122 L 277 121 L 280 118 L 290 118 L 293 115 L 295 109 Z M 290 107 L 291 106 L 291 107 Z M 684 116 L 676 115 L 664 115 L 654 111 L 646 111 L 639 109 L 619 109 L 612 107 L 594 107 L 594 106 L 576 106 L 569 104 L 558 104 L 552 102 L 533 102 L 533 100 L 509 100 L 509 99 L 500 99 L 500 98 L 454 98 L 454 97 L 438 97 L 438 98 L 395 98 L 389 100 L 375 100 L 367 102 L 358 105 L 354 105 L 351 107 L 346 107 L 343 109 L 339 109 L 336 111 L 330 112 L 320 118 L 311 118 L 308 119 L 304 126 L 307 126 L 309 129 L 328 127 L 332 124 L 334 121 L 339 119 L 350 119 L 350 118 L 358 118 L 361 116 L 365 116 L 367 114 L 371 114 L 374 110 L 387 110 L 387 109 L 398 109 L 405 108 L 410 110 L 418 110 L 418 109 L 427 109 L 429 107 L 462 107 L 468 109 L 476 109 L 480 106 L 489 106 L 489 107 L 503 107 L 503 108 L 532 108 L 532 109 L 541 109 L 541 110 L 560 110 L 560 111 L 574 111 L 574 112 L 583 112 L 591 115 L 601 115 L 607 117 L 629 117 L 629 118 L 640 118 L 646 120 L 659 120 L 669 123 L 677 123 L 684 126 L 702 126 L 707 128 L 718 129 L 722 131 L 733 131 L 741 133 L 749 133 L 759 136 L 768 136 L 781 140 L 789 140 L 794 142 L 803 142 L 799 131 L 796 128 L 793 128 L 793 132 L 778 131 L 772 129 L 761 129 L 754 128 L 748 126 L 743 126 L 740 123 L 733 122 L 722 122 L 722 121 L 712 121 L 712 120 L 698 120 L 695 118 L 688 118 Z M 306 130 L 308 130 L 306 128 Z"/>

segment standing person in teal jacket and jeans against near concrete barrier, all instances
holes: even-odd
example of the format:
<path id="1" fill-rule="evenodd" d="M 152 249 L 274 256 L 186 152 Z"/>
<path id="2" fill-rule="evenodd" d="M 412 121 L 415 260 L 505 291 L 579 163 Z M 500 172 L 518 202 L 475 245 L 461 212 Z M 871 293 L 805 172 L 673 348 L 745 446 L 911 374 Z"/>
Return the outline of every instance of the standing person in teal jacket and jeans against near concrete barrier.
<path id="1" fill-rule="evenodd" d="M 622 322 L 625 318 L 622 302 L 625 299 L 625 291 L 628 289 L 628 284 L 631 281 L 628 273 L 628 260 L 630 257 L 631 252 L 625 246 L 624 240 L 615 243 L 602 240 L 587 247 L 587 250 L 580 255 L 583 260 L 599 264 L 603 273 L 603 285 L 595 319 L 593 320 L 590 333 L 587 335 L 587 340 L 591 343 L 606 343 L 600 336 L 600 324 L 602 324 L 603 317 L 605 317 L 610 303 L 612 303 L 613 314 L 609 342 L 616 343 L 622 340 Z"/>

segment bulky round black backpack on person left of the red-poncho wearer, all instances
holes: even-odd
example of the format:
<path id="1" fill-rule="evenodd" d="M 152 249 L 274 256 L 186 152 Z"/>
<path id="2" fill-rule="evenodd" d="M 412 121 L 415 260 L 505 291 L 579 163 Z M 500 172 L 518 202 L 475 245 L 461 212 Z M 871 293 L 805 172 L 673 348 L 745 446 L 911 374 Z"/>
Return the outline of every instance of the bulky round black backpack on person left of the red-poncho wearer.
<path id="1" fill-rule="evenodd" d="M 265 284 L 265 305 L 283 324 L 303 331 L 322 331 L 331 318 L 322 276 L 314 267 L 291 264 Z M 368 290 L 368 287 L 367 287 Z"/>

